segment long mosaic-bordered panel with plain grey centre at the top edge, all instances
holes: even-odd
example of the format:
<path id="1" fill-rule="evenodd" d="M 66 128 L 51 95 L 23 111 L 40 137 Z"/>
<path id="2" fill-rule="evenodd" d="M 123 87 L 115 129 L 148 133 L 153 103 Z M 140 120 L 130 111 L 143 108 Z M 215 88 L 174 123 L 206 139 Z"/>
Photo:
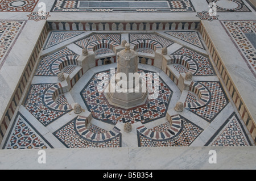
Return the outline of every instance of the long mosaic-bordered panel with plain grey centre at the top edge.
<path id="1" fill-rule="evenodd" d="M 79 1 L 55 0 L 52 12 L 194 12 L 189 0 Z"/>

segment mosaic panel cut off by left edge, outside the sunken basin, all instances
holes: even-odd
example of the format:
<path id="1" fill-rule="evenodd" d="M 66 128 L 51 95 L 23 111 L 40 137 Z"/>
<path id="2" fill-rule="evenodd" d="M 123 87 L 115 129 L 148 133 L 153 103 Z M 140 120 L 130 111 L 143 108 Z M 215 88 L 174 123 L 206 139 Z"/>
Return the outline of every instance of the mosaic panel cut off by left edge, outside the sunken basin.
<path id="1" fill-rule="evenodd" d="M 0 69 L 25 23 L 24 20 L 0 20 Z"/>

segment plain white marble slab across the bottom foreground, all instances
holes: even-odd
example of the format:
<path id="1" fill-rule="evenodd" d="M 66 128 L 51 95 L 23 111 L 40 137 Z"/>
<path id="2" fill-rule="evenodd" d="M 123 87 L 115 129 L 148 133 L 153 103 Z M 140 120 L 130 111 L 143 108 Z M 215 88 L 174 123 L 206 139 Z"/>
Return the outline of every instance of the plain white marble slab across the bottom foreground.
<path id="1" fill-rule="evenodd" d="M 216 151 L 216 163 L 210 150 Z M 256 147 L 175 147 L 48 149 L 46 164 L 39 150 L 0 150 L 0 169 L 7 170 L 221 170 L 256 169 Z M 210 153 L 210 154 L 209 154 Z M 153 171 L 154 174 L 154 171 Z M 103 175 L 102 175 L 103 177 Z"/>

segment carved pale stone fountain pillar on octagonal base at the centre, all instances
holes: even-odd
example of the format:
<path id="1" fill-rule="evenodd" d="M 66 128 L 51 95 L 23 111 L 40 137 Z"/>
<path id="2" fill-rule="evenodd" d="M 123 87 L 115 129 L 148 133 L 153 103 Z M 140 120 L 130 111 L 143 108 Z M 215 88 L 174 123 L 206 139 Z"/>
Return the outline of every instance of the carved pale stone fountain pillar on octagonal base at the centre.
<path id="1" fill-rule="evenodd" d="M 105 90 L 109 104 L 128 109 L 146 102 L 148 91 L 146 82 L 138 74 L 138 58 L 129 43 L 117 53 L 117 73 Z"/>

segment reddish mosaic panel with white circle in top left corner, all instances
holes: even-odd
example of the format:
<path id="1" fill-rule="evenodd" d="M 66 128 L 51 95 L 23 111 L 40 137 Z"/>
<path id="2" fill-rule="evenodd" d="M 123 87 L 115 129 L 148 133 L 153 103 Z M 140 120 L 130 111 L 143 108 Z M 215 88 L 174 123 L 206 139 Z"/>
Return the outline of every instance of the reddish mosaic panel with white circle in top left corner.
<path id="1" fill-rule="evenodd" d="M 38 0 L 2 0 L 0 1 L 0 12 L 32 12 Z"/>

